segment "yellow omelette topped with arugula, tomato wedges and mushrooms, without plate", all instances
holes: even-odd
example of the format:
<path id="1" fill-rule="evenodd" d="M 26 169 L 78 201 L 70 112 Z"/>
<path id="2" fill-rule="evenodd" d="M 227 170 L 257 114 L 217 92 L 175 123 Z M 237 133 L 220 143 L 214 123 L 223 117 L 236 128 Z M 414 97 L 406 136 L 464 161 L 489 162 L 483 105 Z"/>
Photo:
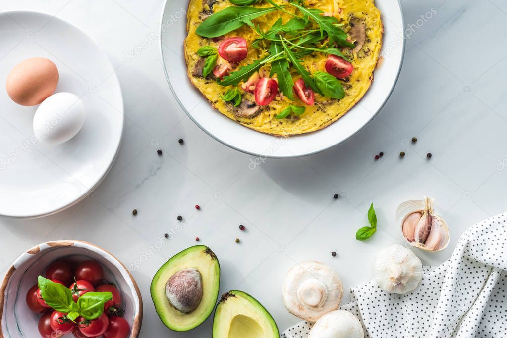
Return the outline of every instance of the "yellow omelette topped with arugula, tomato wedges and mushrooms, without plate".
<path id="1" fill-rule="evenodd" d="M 374 0 L 190 0 L 187 28 L 197 89 L 227 117 L 278 136 L 344 116 L 371 86 L 383 34 Z"/>

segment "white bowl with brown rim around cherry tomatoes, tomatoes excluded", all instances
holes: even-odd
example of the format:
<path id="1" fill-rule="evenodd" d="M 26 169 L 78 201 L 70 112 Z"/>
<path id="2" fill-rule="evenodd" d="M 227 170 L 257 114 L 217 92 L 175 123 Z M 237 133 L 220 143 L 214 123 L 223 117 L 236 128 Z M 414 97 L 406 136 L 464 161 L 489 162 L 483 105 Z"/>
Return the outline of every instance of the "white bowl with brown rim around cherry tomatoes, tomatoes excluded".
<path id="1" fill-rule="evenodd" d="M 26 305 L 28 289 L 37 284 L 46 267 L 60 259 L 79 263 L 95 260 L 102 265 L 104 278 L 122 293 L 124 318 L 130 323 L 130 338 L 139 336 L 142 323 L 142 298 L 128 269 L 109 252 L 91 243 L 58 240 L 40 244 L 21 255 L 8 270 L 0 286 L 0 338 L 39 337 L 40 315 Z M 72 337 L 70 333 L 66 336 Z"/>

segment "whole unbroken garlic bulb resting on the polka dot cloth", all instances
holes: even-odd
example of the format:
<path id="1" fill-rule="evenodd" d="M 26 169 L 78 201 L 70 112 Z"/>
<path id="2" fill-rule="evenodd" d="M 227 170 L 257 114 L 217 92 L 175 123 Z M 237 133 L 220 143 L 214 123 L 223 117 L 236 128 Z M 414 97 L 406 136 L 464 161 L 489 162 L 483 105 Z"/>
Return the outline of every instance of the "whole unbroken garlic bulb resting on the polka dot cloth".
<path id="1" fill-rule="evenodd" d="M 382 290 L 405 294 L 421 281 L 422 262 L 406 247 L 393 245 L 379 252 L 373 274 Z"/>

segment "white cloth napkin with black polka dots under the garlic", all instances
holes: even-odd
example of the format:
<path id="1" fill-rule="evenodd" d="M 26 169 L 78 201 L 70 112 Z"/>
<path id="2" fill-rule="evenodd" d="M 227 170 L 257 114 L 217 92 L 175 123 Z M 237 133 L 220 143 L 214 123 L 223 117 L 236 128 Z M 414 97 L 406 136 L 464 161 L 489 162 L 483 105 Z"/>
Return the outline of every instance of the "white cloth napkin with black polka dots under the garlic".
<path id="1" fill-rule="evenodd" d="M 372 280 L 353 287 L 352 302 L 341 309 L 361 320 L 365 337 L 507 338 L 506 219 L 501 214 L 468 229 L 449 261 L 423 268 L 413 292 L 386 293 Z M 281 336 L 307 337 L 310 328 L 303 322 Z"/>

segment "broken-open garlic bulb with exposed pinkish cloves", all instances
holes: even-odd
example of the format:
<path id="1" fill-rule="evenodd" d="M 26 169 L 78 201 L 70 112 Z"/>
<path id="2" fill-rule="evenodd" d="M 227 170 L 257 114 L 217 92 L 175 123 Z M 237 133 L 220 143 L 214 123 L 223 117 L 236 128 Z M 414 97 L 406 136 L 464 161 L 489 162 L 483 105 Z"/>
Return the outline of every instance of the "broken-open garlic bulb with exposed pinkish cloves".
<path id="1" fill-rule="evenodd" d="M 433 211 L 433 198 L 411 200 L 400 204 L 396 220 L 402 220 L 402 231 L 410 245 L 425 251 L 441 251 L 449 244 L 449 228 Z"/>

